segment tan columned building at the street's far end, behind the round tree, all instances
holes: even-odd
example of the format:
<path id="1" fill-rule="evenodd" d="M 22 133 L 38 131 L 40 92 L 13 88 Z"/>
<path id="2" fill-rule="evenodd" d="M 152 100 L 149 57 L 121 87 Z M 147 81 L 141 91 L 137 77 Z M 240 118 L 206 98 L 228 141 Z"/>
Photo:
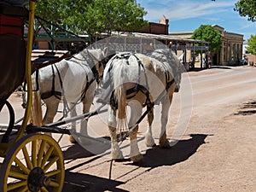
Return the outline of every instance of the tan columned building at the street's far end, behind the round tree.
<path id="1" fill-rule="evenodd" d="M 242 60 L 243 35 L 224 31 L 224 27 L 213 25 L 221 33 L 222 48 L 215 53 L 209 53 L 212 65 L 236 65 Z M 193 32 L 170 32 L 169 35 L 179 38 L 191 38 Z"/>

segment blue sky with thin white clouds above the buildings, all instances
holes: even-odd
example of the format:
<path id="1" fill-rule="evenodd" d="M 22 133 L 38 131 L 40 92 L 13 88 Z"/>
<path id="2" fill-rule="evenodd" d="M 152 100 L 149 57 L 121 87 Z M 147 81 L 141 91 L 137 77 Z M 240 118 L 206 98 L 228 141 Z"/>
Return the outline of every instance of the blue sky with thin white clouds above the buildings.
<path id="1" fill-rule="evenodd" d="M 194 32 L 201 25 L 218 25 L 226 32 L 256 35 L 256 22 L 234 11 L 238 0 L 137 0 L 148 14 L 149 22 L 158 22 L 162 15 L 169 20 L 169 32 Z"/>

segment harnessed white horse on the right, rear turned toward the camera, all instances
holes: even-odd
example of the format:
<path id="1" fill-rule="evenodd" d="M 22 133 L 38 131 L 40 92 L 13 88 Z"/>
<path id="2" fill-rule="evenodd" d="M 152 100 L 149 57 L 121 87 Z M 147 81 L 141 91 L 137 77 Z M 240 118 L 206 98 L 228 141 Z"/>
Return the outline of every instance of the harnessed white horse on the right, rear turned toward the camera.
<path id="1" fill-rule="evenodd" d="M 140 154 L 137 145 L 137 120 L 141 117 L 145 106 L 149 111 L 148 130 L 145 136 L 146 145 L 155 145 L 151 127 L 154 119 L 152 107 L 154 104 L 161 103 L 160 147 L 170 147 L 166 138 L 166 124 L 173 92 L 177 90 L 180 84 L 181 67 L 177 55 L 172 53 L 170 49 L 155 50 L 151 56 L 120 53 L 108 61 L 103 73 L 103 84 L 106 96 L 110 96 L 110 98 L 102 96 L 102 99 L 109 99 L 110 102 L 108 129 L 112 143 L 111 155 L 113 160 L 124 158 L 118 145 L 117 131 L 119 130 L 121 133 L 125 127 L 130 129 L 131 160 L 133 162 L 143 160 L 143 155 Z M 128 125 L 126 125 L 125 119 L 126 105 L 131 108 L 131 118 Z"/>

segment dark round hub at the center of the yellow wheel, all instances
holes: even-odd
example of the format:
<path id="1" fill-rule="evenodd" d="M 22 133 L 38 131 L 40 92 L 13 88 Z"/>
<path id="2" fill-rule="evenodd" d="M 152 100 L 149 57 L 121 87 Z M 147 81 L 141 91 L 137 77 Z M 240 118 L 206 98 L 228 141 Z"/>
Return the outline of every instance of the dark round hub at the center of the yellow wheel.
<path id="1" fill-rule="evenodd" d="M 32 192 L 38 192 L 43 186 L 49 186 L 50 178 L 46 177 L 44 170 L 40 167 L 35 167 L 27 177 L 28 189 Z"/>

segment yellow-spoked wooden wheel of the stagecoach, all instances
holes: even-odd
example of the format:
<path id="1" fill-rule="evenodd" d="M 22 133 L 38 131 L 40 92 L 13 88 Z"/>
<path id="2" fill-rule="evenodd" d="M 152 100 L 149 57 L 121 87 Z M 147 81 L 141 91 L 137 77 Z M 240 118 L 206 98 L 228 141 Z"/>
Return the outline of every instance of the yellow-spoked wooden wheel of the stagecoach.
<path id="1" fill-rule="evenodd" d="M 47 152 L 44 152 L 46 145 Z M 61 148 L 43 134 L 21 137 L 6 154 L 0 168 L 0 191 L 61 192 L 65 169 Z"/>

